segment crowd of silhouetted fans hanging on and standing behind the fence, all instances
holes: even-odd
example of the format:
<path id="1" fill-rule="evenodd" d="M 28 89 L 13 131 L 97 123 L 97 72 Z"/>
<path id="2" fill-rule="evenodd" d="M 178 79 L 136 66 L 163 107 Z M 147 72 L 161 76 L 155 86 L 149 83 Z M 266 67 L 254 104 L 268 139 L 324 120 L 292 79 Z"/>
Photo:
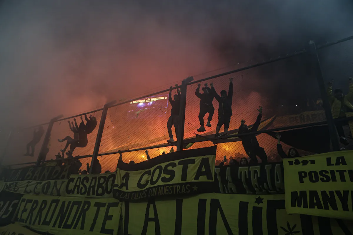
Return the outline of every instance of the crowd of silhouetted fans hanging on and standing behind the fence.
<path id="1" fill-rule="evenodd" d="M 205 87 L 202 88 L 203 94 L 201 94 L 199 92 L 201 84 L 198 84 L 195 94 L 198 98 L 200 98 L 200 112 L 198 117 L 199 117 L 201 127 L 197 129 L 197 131 L 199 132 L 205 131 L 203 118 L 207 113 L 209 113 L 209 116 L 208 116 L 208 122 L 206 126 L 209 126 L 209 127 L 211 126 L 210 122 L 214 114 L 214 107 L 212 102 L 213 102 L 213 98 L 216 98 L 216 100 L 219 102 L 219 110 L 218 110 L 218 123 L 216 126 L 215 137 L 227 138 L 229 122 L 232 116 L 232 95 L 233 95 L 232 80 L 233 80 L 232 78 L 229 79 L 228 94 L 225 90 L 222 90 L 221 95 L 218 95 L 216 93 L 212 83 L 210 84 L 211 88 L 209 88 L 208 85 L 205 84 Z M 348 122 L 345 121 L 343 118 L 346 117 L 346 112 L 353 112 L 353 105 L 351 104 L 351 100 L 353 100 L 352 78 L 349 78 L 349 83 L 350 83 L 349 93 L 347 95 L 343 95 L 343 92 L 341 89 L 335 89 L 334 94 L 332 94 L 332 82 L 329 82 L 328 89 L 327 89 L 327 94 L 329 97 L 333 117 L 335 118 L 335 125 L 340 137 L 340 142 L 345 145 L 348 145 L 348 141 L 346 140 L 342 126 L 348 125 Z M 179 89 L 177 89 L 177 93 L 178 94 L 174 95 L 174 100 L 173 100 L 172 87 L 170 87 L 169 102 L 172 105 L 172 111 L 171 111 L 171 116 L 169 117 L 168 123 L 167 123 L 168 134 L 170 138 L 168 140 L 169 143 L 174 142 L 172 129 L 171 129 L 173 125 L 176 130 L 175 133 L 178 135 L 177 129 L 178 129 L 178 123 L 179 123 L 179 109 L 180 109 L 180 95 L 181 95 Z M 259 109 L 257 109 L 258 116 L 257 116 L 256 122 L 252 125 L 251 128 L 248 128 L 248 126 L 245 124 L 245 120 L 241 120 L 240 122 L 238 134 L 246 134 L 246 135 L 240 135 L 239 138 L 241 139 L 241 142 L 243 144 L 243 147 L 247 156 L 244 154 L 238 153 L 234 157 L 229 157 L 229 162 L 227 157 L 224 156 L 223 161 L 219 161 L 219 160 L 216 161 L 216 165 L 218 166 L 256 165 L 258 163 L 257 157 L 261 160 L 261 163 L 268 162 L 268 156 L 264 148 L 259 146 L 256 134 L 253 134 L 253 132 L 256 132 L 258 130 L 258 127 L 261 123 L 262 110 L 263 110 L 262 106 L 259 106 Z M 81 117 L 81 120 L 82 121 L 79 126 L 77 125 L 76 120 L 75 120 L 75 123 L 72 123 L 72 126 L 69 122 L 70 129 L 74 134 L 74 138 L 67 136 L 63 140 L 59 140 L 59 142 L 67 141 L 66 146 L 64 149 L 61 150 L 62 154 L 58 153 L 56 155 L 57 161 L 51 162 L 50 164 L 55 164 L 56 166 L 73 165 L 74 166 L 73 172 L 78 174 L 88 174 L 88 172 L 90 172 L 89 163 L 87 163 L 86 170 L 82 171 L 80 169 L 82 167 L 82 163 L 79 161 L 78 156 L 73 157 L 72 153 L 76 147 L 85 147 L 87 145 L 87 134 L 91 133 L 95 129 L 97 125 L 97 121 L 95 117 L 90 116 L 90 118 L 88 119 L 86 115 L 85 115 L 85 120 L 87 123 L 84 124 L 82 117 Z M 219 131 L 221 126 L 223 125 L 224 125 L 224 132 L 222 135 L 220 135 Z M 35 143 L 39 142 L 38 139 L 40 139 L 43 133 L 44 131 L 42 129 L 39 129 L 37 132 L 36 131 L 34 132 L 34 140 L 32 140 L 28 144 L 27 153 L 25 155 L 33 156 Z M 300 156 L 298 150 L 295 148 L 290 148 L 288 150 L 288 153 L 286 154 L 285 151 L 283 151 L 282 144 L 280 142 L 281 135 L 279 133 L 276 134 L 276 138 L 277 138 L 277 152 L 281 158 L 292 158 L 292 157 Z M 67 158 L 64 158 L 64 153 L 68 146 L 70 146 L 70 150 L 66 153 Z M 29 153 L 30 147 L 32 148 L 31 153 Z M 146 153 L 147 160 L 150 160 L 148 150 L 146 150 L 145 153 Z M 165 154 L 165 152 L 163 152 L 163 154 Z M 239 161 L 237 161 L 237 159 L 239 159 Z M 120 163 L 123 162 L 121 153 L 119 157 L 119 162 Z M 118 165 L 119 165 L 119 162 L 118 162 Z M 129 164 L 135 164 L 135 162 L 130 161 Z M 105 173 L 107 172 L 109 171 L 106 171 Z M 102 173 L 102 167 L 98 159 L 95 159 L 95 161 L 93 162 L 93 168 L 91 169 L 91 173 L 92 174 Z"/>

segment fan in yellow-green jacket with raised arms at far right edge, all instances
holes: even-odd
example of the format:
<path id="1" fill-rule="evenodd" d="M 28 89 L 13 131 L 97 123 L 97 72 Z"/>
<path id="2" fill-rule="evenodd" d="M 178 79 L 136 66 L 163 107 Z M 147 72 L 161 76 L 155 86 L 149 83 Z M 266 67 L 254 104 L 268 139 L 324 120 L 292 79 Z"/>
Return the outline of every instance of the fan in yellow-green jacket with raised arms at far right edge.
<path id="1" fill-rule="evenodd" d="M 349 78 L 349 92 L 347 95 L 343 95 L 342 89 L 335 89 L 332 94 L 333 82 L 328 82 L 327 95 L 331 105 L 332 117 L 335 119 L 335 125 L 340 136 L 340 142 L 344 145 L 348 145 L 343 126 L 349 125 L 350 129 L 353 129 L 353 121 L 342 120 L 347 116 L 352 116 L 353 112 L 353 83 L 352 78 Z M 349 115 L 347 115 L 349 113 Z"/>

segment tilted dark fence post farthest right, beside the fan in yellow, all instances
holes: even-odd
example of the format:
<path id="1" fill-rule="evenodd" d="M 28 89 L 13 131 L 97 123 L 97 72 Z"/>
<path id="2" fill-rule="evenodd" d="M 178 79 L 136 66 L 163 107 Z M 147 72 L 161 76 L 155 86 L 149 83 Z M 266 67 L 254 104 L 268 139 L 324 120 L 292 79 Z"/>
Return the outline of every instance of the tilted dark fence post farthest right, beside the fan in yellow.
<path id="1" fill-rule="evenodd" d="M 322 70 L 321 70 L 321 66 L 320 66 L 319 56 L 318 56 L 317 50 L 316 50 L 316 45 L 315 45 L 314 41 L 309 41 L 309 45 L 310 45 L 310 55 L 312 58 L 313 66 L 315 68 L 316 79 L 317 79 L 317 82 L 319 85 L 321 99 L 323 102 L 323 108 L 325 110 L 327 126 L 328 126 L 329 132 L 330 132 L 332 148 L 334 151 L 338 151 L 338 150 L 340 150 L 340 143 L 339 143 L 339 140 L 338 140 L 337 134 L 336 134 L 335 122 L 332 117 L 331 105 L 330 105 L 330 102 L 329 102 L 329 99 L 327 96 L 326 86 L 325 86 L 324 78 L 322 76 Z"/>

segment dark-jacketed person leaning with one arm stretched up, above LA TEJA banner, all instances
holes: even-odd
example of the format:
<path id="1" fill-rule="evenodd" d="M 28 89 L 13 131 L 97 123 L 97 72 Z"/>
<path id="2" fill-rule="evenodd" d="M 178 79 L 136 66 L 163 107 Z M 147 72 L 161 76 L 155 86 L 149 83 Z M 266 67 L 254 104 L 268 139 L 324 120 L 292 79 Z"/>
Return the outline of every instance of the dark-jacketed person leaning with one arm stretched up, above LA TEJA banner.
<path id="1" fill-rule="evenodd" d="M 252 128 L 248 129 L 247 125 L 245 125 L 245 120 L 241 120 L 241 125 L 239 127 L 238 134 L 251 133 L 257 131 L 262 118 L 262 107 L 259 106 L 259 109 L 257 109 L 257 111 L 259 111 L 259 115 L 257 116 L 256 122 L 254 123 Z M 251 163 L 257 163 L 256 156 L 258 156 L 262 160 L 262 163 L 267 163 L 266 152 L 262 147 L 259 146 L 259 142 L 257 141 L 256 135 L 243 135 L 239 136 L 239 138 L 243 143 L 244 150 L 251 159 Z"/>

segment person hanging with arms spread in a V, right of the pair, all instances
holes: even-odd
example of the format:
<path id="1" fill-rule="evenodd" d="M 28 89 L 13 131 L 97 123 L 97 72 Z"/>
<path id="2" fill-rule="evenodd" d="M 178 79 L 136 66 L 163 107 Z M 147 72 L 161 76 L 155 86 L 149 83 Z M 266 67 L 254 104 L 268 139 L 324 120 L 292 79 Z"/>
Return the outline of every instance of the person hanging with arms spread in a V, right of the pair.
<path id="1" fill-rule="evenodd" d="M 215 137 L 220 136 L 219 132 L 224 125 L 224 133 L 223 135 L 227 135 L 229 123 L 231 122 L 232 113 L 232 98 L 233 98 L 233 78 L 229 79 L 229 90 L 222 90 L 221 95 L 217 94 L 215 88 L 213 87 L 213 83 L 210 84 L 211 91 L 218 101 L 218 123 L 216 127 Z"/>

